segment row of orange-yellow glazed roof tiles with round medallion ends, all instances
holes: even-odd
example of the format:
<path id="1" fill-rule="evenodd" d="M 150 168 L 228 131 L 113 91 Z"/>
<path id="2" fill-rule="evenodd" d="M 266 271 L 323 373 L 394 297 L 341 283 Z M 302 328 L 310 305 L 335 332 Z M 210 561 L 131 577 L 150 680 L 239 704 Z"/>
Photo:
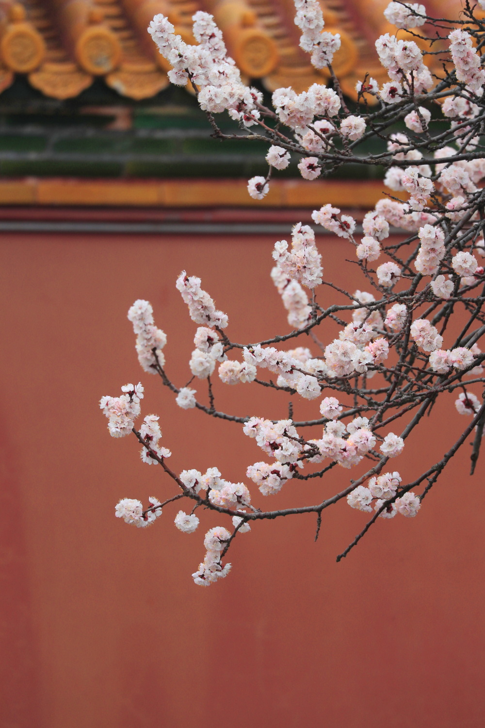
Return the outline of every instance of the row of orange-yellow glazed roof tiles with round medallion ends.
<path id="1" fill-rule="evenodd" d="M 355 97 L 356 81 L 366 72 L 385 80 L 374 39 L 390 29 L 382 15 L 388 0 L 320 1 L 326 31 L 340 33 L 333 65 L 344 92 Z M 460 0 L 428 0 L 438 15 L 445 5 L 448 14 L 460 12 Z M 47 96 L 73 98 L 103 76 L 121 96 L 151 98 L 169 82 L 148 23 L 164 13 L 185 41 L 194 42 L 197 10 L 215 16 L 244 77 L 262 79 L 268 90 L 292 85 L 301 91 L 325 82 L 326 69 L 313 68 L 298 47 L 292 0 L 1 0 L 0 92 L 17 73 L 28 74 Z"/>

